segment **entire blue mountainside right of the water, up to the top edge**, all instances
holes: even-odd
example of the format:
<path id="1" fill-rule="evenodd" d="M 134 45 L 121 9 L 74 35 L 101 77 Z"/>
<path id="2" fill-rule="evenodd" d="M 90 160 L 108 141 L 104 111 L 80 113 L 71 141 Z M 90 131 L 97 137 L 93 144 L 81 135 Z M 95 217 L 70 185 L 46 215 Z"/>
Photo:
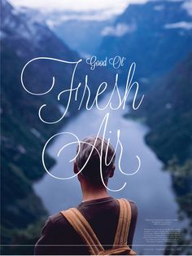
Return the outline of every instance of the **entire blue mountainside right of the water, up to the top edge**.
<path id="1" fill-rule="evenodd" d="M 149 126 L 146 143 L 170 173 L 178 218 L 185 223 L 178 241 L 172 240 L 177 232 L 170 232 L 164 251 L 169 255 L 192 254 L 191 3 L 159 0 L 130 5 L 112 27 L 103 29 L 98 49 L 101 57 L 123 55 L 137 64 L 135 77 L 145 98 L 128 117 L 142 118 Z M 178 252 L 180 245 L 185 246 Z"/>

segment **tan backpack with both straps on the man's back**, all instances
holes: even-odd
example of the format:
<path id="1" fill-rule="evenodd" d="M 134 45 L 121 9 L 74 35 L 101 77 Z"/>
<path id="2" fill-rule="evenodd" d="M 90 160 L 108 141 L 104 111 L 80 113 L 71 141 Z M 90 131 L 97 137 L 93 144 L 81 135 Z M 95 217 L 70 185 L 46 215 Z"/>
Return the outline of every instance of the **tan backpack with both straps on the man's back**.
<path id="1" fill-rule="evenodd" d="M 95 235 L 93 229 L 79 210 L 76 208 L 70 208 L 60 212 L 68 219 L 68 222 L 81 236 L 81 239 L 89 249 L 90 255 L 136 255 L 133 249 L 130 249 L 129 245 L 127 245 L 131 221 L 131 207 L 129 201 L 123 198 L 117 199 L 117 201 L 120 205 L 120 215 L 116 229 L 116 236 L 111 249 L 103 249 L 103 245 L 98 241 L 98 237 Z"/>

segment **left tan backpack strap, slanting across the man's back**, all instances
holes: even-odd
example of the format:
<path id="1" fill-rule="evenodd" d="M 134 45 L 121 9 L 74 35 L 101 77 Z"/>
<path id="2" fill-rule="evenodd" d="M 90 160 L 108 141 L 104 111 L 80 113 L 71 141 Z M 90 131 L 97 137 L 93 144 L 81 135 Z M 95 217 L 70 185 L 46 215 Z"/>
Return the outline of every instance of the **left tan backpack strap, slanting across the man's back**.
<path id="1" fill-rule="evenodd" d="M 79 210 L 71 208 L 69 210 L 63 210 L 60 213 L 68 219 L 68 222 L 81 236 L 85 245 L 88 245 L 89 254 L 98 255 L 99 251 L 103 250 L 103 246 L 98 241 L 98 237 Z"/>

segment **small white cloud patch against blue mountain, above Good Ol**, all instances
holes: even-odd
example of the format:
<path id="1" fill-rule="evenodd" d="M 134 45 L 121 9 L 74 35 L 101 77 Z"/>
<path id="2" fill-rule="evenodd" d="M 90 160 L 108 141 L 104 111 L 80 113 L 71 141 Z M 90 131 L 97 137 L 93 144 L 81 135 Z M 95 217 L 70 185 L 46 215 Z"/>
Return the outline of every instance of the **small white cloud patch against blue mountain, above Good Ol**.
<path id="1" fill-rule="evenodd" d="M 110 27 L 110 26 L 105 27 L 102 31 L 102 35 L 122 37 L 124 36 L 125 33 L 132 33 L 135 30 L 136 30 L 135 24 L 128 25 L 124 23 L 119 23 L 119 24 L 116 24 L 115 27 Z"/>

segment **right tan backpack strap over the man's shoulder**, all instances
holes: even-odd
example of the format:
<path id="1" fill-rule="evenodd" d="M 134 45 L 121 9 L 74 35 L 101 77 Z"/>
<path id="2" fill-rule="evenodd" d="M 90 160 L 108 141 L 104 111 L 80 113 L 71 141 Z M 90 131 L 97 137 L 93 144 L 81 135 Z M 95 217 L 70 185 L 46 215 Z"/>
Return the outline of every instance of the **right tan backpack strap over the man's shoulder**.
<path id="1" fill-rule="evenodd" d="M 116 236 L 113 248 L 127 245 L 129 226 L 131 223 L 131 206 L 126 199 L 117 199 L 120 205 L 119 221 L 116 229 Z"/>

